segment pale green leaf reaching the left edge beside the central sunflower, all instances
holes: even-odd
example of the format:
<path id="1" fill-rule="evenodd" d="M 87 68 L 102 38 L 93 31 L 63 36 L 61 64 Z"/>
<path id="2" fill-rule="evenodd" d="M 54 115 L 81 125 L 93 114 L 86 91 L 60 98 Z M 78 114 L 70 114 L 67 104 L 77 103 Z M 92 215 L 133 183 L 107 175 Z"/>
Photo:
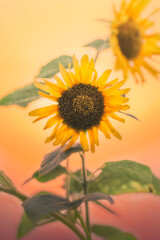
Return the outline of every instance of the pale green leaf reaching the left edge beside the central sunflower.
<path id="1" fill-rule="evenodd" d="M 0 105 L 19 105 L 21 107 L 26 107 L 30 102 L 38 99 L 39 97 L 38 89 L 33 83 L 31 83 L 30 85 L 20 88 L 0 99 Z"/>

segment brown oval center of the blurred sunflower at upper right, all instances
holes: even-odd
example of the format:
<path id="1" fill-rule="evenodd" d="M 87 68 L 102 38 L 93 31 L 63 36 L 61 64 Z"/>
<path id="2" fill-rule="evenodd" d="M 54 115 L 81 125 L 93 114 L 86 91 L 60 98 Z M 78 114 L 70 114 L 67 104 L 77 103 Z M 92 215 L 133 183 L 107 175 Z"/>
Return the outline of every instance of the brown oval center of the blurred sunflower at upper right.
<path id="1" fill-rule="evenodd" d="M 118 27 L 118 42 L 123 55 L 129 60 L 136 58 L 142 47 L 142 37 L 135 22 L 129 20 Z"/>

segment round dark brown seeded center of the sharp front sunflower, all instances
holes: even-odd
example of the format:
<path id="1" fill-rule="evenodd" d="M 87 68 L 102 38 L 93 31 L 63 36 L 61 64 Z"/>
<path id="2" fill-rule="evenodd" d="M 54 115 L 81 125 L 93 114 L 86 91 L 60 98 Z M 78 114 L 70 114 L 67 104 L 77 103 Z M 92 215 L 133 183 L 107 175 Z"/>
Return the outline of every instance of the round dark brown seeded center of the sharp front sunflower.
<path id="1" fill-rule="evenodd" d="M 104 113 L 104 97 L 90 84 L 76 84 L 58 99 L 59 114 L 69 127 L 86 130 L 100 123 Z"/>

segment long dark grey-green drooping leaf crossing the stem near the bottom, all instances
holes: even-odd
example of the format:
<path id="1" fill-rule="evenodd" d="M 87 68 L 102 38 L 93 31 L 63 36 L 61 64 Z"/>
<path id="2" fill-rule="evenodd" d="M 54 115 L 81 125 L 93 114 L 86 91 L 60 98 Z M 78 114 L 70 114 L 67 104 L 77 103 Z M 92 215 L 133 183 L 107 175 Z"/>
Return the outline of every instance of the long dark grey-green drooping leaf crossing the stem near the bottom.
<path id="1" fill-rule="evenodd" d="M 63 210 L 71 210 L 77 208 L 83 202 L 101 199 L 105 199 L 111 204 L 113 203 L 113 199 L 109 195 L 103 193 L 91 193 L 72 202 L 70 202 L 67 198 L 54 194 L 47 194 L 29 198 L 22 203 L 22 206 L 24 207 L 27 216 L 33 222 L 36 222 L 38 219 L 45 217 L 46 215 Z"/>

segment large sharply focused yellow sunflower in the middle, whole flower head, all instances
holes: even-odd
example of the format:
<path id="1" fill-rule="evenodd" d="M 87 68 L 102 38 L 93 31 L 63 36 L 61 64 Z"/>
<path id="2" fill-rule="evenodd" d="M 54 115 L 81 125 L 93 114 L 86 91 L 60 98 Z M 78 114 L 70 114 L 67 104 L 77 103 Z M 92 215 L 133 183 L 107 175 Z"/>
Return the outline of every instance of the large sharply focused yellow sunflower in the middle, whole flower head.
<path id="1" fill-rule="evenodd" d="M 99 78 L 94 66 L 94 60 L 89 61 L 84 55 L 79 65 L 73 56 L 73 68 L 68 71 L 59 64 L 62 78 L 57 75 L 54 80 L 43 79 L 44 83 L 35 83 L 42 90 L 42 97 L 53 101 L 50 106 L 33 110 L 30 116 L 36 116 L 34 122 L 50 116 L 44 129 L 53 127 L 51 135 L 46 142 L 53 141 L 53 145 L 64 146 L 69 149 L 78 138 L 84 151 L 95 151 L 95 145 L 99 145 L 98 130 L 104 133 L 106 138 L 110 134 L 121 139 L 118 131 L 112 126 L 109 118 L 124 122 L 124 119 L 115 112 L 129 108 L 128 98 L 124 97 L 129 89 L 120 90 L 124 80 L 118 82 L 114 79 L 106 83 L 111 70 L 106 70 Z M 123 95 L 123 96 L 122 96 Z"/>

